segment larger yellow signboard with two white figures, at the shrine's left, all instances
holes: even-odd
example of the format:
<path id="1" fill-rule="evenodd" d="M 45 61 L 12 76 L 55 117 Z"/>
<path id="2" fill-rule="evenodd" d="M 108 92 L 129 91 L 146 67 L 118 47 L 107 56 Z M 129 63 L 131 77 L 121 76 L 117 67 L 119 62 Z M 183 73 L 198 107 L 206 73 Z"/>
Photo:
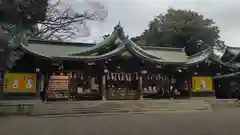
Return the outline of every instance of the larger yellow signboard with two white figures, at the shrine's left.
<path id="1" fill-rule="evenodd" d="M 36 74 L 5 74 L 3 92 L 36 93 Z"/>

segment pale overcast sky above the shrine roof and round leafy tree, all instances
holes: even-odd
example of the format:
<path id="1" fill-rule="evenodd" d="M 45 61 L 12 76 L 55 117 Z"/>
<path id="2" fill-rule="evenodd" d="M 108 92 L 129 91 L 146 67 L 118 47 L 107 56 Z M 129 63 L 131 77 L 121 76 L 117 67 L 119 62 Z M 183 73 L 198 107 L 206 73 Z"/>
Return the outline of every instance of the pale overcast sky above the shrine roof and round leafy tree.
<path id="1" fill-rule="evenodd" d="M 70 1 L 70 0 L 68 0 Z M 79 0 L 71 0 L 79 1 Z M 88 0 L 85 0 L 88 1 Z M 93 1 L 93 0 L 92 0 Z M 171 7 L 191 9 L 212 18 L 220 28 L 221 39 L 228 46 L 238 46 L 240 39 L 240 0 L 95 0 L 108 10 L 104 22 L 88 22 L 91 36 L 75 41 L 90 42 L 113 31 L 121 22 L 129 36 L 140 35 L 147 28 L 149 21 Z"/>

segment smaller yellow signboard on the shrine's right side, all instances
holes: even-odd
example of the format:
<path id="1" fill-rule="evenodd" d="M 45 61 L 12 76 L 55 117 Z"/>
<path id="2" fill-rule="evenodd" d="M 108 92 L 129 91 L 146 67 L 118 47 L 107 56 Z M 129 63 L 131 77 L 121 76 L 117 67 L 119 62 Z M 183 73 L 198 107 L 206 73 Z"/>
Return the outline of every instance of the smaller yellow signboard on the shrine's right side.
<path id="1" fill-rule="evenodd" d="M 210 76 L 193 76 L 192 78 L 192 90 L 198 91 L 212 91 L 213 81 Z"/>

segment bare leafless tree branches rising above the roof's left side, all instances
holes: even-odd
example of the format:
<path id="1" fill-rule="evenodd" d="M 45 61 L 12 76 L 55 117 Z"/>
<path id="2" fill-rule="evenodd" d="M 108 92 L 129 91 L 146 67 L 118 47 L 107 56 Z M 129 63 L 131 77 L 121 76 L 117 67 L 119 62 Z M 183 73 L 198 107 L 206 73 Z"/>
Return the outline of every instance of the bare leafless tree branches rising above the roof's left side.
<path id="1" fill-rule="evenodd" d="M 76 11 L 76 5 L 61 6 L 60 0 L 49 4 L 46 19 L 40 22 L 32 34 L 32 38 L 41 40 L 68 40 L 78 36 L 89 36 L 90 30 L 86 21 L 102 21 L 108 12 L 99 2 L 76 3 L 88 5 L 84 11 Z M 82 8 L 84 8 L 82 7 Z"/>

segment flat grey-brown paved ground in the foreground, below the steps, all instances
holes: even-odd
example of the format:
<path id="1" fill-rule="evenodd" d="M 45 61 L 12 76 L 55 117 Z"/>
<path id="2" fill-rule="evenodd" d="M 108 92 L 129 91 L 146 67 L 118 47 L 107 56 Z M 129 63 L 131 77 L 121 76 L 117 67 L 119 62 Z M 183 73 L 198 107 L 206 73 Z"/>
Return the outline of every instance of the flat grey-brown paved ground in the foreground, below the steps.
<path id="1" fill-rule="evenodd" d="M 81 117 L 0 117 L 1 135 L 239 135 L 240 109 Z"/>

